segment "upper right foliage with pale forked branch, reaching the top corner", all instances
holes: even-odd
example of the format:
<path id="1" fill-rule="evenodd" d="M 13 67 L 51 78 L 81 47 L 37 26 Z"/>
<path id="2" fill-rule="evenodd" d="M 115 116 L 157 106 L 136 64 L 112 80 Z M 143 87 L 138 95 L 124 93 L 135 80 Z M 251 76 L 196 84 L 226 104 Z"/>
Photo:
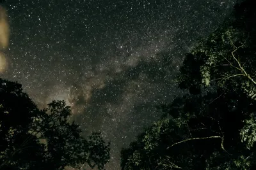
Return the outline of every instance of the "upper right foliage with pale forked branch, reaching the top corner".
<path id="1" fill-rule="evenodd" d="M 215 85 L 226 90 L 242 88 L 255 98 L 255 2 L 244 1 L 235 9 L 233 20 L 224 22 L 208 38 L 198 41 L 186 55 L 178 78 L 180 88 L 191 90 Z"/>

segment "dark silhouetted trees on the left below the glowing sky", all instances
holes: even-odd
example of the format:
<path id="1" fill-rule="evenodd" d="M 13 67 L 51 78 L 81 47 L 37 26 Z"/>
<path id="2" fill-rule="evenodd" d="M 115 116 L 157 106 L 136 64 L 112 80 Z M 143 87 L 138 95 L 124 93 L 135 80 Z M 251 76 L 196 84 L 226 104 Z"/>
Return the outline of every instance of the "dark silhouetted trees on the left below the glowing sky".
<path id="1" fill-rule="evenodd" d="M 40 111 L 19 83 L 0 79 L 0 169 L 104 169 L 109 143 L 100 133 L 83 138 L 68 116 L 64 101 Z"/>

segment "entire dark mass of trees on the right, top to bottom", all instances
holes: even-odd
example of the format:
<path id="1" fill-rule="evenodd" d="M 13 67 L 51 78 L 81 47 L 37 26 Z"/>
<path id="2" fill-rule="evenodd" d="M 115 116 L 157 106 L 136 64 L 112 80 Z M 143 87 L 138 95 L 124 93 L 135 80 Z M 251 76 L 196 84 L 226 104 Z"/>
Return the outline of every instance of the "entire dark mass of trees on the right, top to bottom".
<path id="1" fill-rule="evenodd" d="M 122 150 L 122 169 L 256 169 L 256 2 L 186 55 L 163 118 Z"/>

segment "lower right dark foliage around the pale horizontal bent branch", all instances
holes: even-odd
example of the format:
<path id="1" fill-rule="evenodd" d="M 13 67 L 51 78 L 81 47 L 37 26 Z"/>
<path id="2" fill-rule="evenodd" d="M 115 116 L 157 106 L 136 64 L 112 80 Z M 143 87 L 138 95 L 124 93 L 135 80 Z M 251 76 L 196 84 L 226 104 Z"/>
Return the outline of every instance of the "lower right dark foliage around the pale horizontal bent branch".
<path id="1" fill-rule="evenodd" d="M 240 132 L 247 128 L 243 120 L 250 120 L 255 104 L 246 94 L 231 92 L 175 100 L 168 115 L 122 150 L 122 169 L 254 167 L 255 132 L 244 132 L 244 143 Z"/>

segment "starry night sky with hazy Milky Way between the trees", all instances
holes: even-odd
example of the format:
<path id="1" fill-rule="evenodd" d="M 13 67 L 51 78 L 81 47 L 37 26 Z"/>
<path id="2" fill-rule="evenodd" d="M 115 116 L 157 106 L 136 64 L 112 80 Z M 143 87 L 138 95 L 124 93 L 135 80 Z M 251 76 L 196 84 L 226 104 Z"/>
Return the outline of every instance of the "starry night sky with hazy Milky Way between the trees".
<path id="1" fill-rule="evenodd" d="M 0 76 L 22 83 L 40 108 L 72 107 L 84 135 L 111 141 L 108 170 L 181 94 L 173 80 L 195 40 L 218 27 L 235 0 L 6 0 L 10 45 Z M 168 55 L 166 55 L 168 53 Z"/>

